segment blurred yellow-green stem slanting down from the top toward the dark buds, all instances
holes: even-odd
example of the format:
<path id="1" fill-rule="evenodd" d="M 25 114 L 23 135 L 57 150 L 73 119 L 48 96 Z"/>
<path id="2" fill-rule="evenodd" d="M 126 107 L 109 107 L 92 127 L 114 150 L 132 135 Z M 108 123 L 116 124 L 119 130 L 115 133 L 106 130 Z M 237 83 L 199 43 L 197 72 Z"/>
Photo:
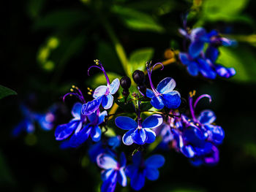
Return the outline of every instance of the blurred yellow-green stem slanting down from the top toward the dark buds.
<path id="1" fill-rule="evenodd" d="M 127 68 L 128 59 L 127 59 L 127 55 L 124 51 L 124 47 L 121 45 L 121 42 L 119 42 L 118 38 L 116 37 L 116 34 L 113 31 L 113 28 L 110 26 L 110 23 L 108 23 L 108 20 L 106 20 L 105 18 L 102 18 L 102 17 L 101 17 L 101 20 L 102 20 L 102 25 L 105 27 L 111 41 L 113 42 L 113 45 L 115 46 L 116 53 L 118 55 L 118 58 L 121 61 L 121 65 L 123 66 L 124 72 L 128 76 L 130 76 L 129 69 Z"/>

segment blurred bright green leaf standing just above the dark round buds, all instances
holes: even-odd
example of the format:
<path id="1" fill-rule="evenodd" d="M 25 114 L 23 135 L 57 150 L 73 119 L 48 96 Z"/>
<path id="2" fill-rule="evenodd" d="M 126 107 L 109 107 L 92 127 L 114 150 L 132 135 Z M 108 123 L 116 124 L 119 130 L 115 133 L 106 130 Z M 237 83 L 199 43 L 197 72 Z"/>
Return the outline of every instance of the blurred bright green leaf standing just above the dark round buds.
<path id="1" fill-rule="evenodd" d="M 135 50 L 129 56 L 129 75 L 132 75 L 132 72 L 135 70 L 144 71 L 146 69 L 146 61 L 150 61 L 153 57 L 154 50 L 152 48 L 142 48 L 140 50 Z"/>

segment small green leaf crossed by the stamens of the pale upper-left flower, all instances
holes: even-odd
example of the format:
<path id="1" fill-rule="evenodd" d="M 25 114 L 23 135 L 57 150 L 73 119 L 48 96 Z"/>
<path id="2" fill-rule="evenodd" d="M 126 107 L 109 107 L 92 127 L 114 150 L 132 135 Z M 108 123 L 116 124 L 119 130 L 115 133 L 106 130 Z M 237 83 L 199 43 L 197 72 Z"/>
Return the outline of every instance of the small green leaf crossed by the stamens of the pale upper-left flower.
<path id="1" fill-rule="evenodd" d="M 108 72 L 108 78 L 111 83 L 116 78 L 120 80 L 121 76 L 113 72 Z M 107 85 L 106 77 L 103 73 L 94 74 L 93 77 L 86 80 L 86 85 L 90 85 L 91 88 L 97 88 L 99 85 Z"/>

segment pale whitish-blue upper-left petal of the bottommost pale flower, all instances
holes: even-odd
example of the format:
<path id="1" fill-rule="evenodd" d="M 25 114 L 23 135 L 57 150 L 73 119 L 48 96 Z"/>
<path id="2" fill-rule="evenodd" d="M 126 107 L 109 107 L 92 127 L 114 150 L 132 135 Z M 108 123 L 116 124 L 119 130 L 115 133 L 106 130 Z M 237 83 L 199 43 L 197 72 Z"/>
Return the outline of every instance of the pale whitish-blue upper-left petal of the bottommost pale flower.
<path id="1" fill-rule="evenodd" d="M 106 153 L 99 154 L 97 156 L 97 165 L 102 169 L 116 169 L 118 167 L 118 163 L 113 156 L 108 155 Z"/>

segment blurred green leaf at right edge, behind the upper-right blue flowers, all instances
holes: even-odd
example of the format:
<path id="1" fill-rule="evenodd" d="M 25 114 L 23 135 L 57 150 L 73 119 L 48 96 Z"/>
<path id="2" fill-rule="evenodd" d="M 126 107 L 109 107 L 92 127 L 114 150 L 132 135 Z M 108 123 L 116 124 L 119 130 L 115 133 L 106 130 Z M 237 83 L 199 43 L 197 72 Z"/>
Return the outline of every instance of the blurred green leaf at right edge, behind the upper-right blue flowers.
<path id="1" fill-rule="evenodd" d="M 236 75 L 231 80 L 256 82 L 256 58 L 255 53 L 249 47 L 239 46 L 236 49 L 220 47 L 219 51 L 217 63 L 236 69 Z"/>

